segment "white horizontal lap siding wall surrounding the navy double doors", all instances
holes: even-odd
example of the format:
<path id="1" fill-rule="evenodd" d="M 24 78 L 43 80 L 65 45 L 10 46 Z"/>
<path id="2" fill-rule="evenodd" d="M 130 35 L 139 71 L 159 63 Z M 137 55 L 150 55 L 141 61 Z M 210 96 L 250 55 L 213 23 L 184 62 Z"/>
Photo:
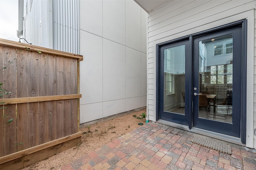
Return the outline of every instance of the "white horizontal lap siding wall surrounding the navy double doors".
<path id="1" fill-rule="evenodd" d="M 254 53 L 256 51 L 256 33 L 254 30 L 255 7 L 255 0 L 173 0 L 148 14 L 147 113 L 149 114 L 149 120 L 156 121 L 156 44 L 233 21 L 248 19 L 246 146 L 255 148 L 256 144 L 253 146 L 253 143 L 256 143 L 253 141 L 253 129 L 256 128 L 256 59 L 254 60 L 254 65 L 252 64 L 256 54 Z M 253 80 L 253 70 L 254 82 L 251 81 Z M 252 90 L 254 90 L 254 100 L 252 93 L 250 93 Z M 254 127 L 252 120 L 254 120 Z"/>

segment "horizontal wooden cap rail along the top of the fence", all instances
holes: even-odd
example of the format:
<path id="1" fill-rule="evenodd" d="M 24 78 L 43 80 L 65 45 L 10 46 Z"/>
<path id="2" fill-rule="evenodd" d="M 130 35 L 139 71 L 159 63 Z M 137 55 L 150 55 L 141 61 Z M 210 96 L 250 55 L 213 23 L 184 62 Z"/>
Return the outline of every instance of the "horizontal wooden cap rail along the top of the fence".
<path id="1" fill-rule="evenodd" d="M 46 53 L 46 54 L 58 55 L 61 57 L 70 57 L 73 59 L 77 59 L 78 61 L 83 61 L 82 55 L 67 53 L 64 51 L 58 51 L 58 50 L 54 50 L 54 49 L 48 49 L 48 48 L 44 48 L 44 47 L 38 47 L 35 45 L 19 43 L 16 41 L 10 41 L 10 40 L 6 40 L 6 39 L 0 39 L 0 45 L 17 47 L 17 48 L 21 48 L 21 49 L 30 49 L 30 50 L 33 50 L 36 52 L 41 51 L 42 53 Z"/>

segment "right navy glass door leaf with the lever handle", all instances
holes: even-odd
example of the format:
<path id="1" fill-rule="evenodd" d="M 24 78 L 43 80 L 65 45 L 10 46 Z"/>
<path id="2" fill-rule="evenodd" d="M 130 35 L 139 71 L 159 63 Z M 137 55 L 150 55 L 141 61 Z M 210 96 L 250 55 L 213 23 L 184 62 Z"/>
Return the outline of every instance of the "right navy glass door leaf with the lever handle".
<path id="1" fill-rule="evenodd" d="M 193 127 L 240 137 L 241 27 L 195 37 L 193 44 Z"/>

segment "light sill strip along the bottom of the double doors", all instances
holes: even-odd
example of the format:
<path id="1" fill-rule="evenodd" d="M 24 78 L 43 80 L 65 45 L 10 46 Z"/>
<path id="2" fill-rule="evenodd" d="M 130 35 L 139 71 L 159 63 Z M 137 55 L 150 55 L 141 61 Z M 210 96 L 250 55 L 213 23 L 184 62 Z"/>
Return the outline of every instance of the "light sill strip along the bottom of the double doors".
<path id="1" fill-rule="evenodd" d="M 241 142 L 241 139 L 237 138 L 237 137 L 223 135 L 223 134 L 212 132 L 212 131 L 206 131 L 204 129 L 199 129 L 199 128 L 196 128 L 196 127 L 192 127 L 192 129 L 189 129 L 188 126 L 180 125 L 180 124 L 169 122 L 169 121 L 165 121 L 165 120 L 162 120 L 162 119 L 159 119 L 158 121 L 156 121 L 156 123 L 176 127 L 178 129 L 182 129 L 182 130 L 185 130 L 185 131 L 190 131 L 190 132 L 193 132 L 193 133 L 198 133 L 200 135 L 211 137 L 211 138 L 214 138 L 216 140 L 222 140 L 222 141 L 226 141 L 228 143 L 234 143 L 236 145 L 241 145 L 243 147 L 246 146 L 246 144 L 243 144 Z"/>

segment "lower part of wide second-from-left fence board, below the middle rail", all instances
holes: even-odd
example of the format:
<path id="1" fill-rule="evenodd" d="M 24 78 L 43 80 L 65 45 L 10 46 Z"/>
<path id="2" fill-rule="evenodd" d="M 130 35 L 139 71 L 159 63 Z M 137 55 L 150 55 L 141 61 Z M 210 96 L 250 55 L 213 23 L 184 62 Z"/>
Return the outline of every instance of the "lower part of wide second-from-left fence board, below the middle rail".
<path id="1" fill-rule="evenodd" d="M 4 155 L 7 155 L 17 152 L 16 104 L 4 106 Z"/>

